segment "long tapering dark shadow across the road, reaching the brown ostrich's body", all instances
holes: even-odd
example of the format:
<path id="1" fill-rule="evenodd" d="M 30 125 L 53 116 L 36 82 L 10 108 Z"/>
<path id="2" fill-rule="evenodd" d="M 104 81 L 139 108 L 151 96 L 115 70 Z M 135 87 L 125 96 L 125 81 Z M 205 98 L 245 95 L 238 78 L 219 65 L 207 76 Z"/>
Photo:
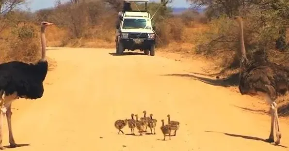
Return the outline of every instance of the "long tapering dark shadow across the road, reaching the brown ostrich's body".
<path id="1" fill-rule="evenodd" d="M 194 76 L 193 74 L 168 74 L 161 76 L 181 76 L 181 77 L 191 77 L 195 80 L 202 81 L 204 83 L 214 85 L 214 86 L 222 86 L 222 87 L 230 87 L 230 86 L 238 86 L 239 85 L 239 74 L 233 74 L 226 79 L 212 79 L 207 77 Z"/>

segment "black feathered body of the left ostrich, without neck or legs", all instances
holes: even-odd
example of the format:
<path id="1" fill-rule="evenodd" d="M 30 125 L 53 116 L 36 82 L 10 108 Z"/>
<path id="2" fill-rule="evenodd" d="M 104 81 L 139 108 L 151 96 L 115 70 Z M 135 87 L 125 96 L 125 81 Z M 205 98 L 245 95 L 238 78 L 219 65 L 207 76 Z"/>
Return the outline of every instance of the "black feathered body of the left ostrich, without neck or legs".
<path id="1" fill-rule="evenodd" d="M 5 91 L 6 95 L 17 92 L 19 97 L 41 98 L 47 71 L 47 61 L 38 61 L 36 64 L 19 61 L 2 63 L 0 64 L 0 90 Z"/>

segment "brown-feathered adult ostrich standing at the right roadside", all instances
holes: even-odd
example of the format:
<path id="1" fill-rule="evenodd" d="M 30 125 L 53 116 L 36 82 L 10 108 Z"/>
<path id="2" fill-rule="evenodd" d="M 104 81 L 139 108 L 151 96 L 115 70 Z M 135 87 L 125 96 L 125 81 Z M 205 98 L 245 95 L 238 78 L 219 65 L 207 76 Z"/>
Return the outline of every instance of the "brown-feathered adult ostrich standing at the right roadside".
<path id="1" fill-rule="evenodd" d="M 276 98 L 284 95 L 289 90 L 289 68 L 275 63 L 263 61 L 250 61 L 246 57 L 246 50 L 243 36 L 242 17 L 236 16 L 234 19 L 239 23 L 241 34 L 241 57 L 240 57 L 240 81 L 239 90 L 241 94 L 259 95 L 264 97 L 270 104 L 271 130 L 266 141 L 274 142 L 274 123 L 277 140 L 275 145 L 280 143 L 281 133 L 277 113 Z"/>

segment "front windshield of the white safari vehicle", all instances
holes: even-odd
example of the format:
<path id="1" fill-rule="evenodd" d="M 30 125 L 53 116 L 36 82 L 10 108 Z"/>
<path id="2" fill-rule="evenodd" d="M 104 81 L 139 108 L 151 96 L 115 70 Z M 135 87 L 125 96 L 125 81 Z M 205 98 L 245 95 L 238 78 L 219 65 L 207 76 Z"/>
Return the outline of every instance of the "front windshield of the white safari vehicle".
<path id="1" fill-rule="evenodd" d="M 145 19 L 124 19 L 123 29 L 139 29 L 145 28 L 146 20 Z"/>

